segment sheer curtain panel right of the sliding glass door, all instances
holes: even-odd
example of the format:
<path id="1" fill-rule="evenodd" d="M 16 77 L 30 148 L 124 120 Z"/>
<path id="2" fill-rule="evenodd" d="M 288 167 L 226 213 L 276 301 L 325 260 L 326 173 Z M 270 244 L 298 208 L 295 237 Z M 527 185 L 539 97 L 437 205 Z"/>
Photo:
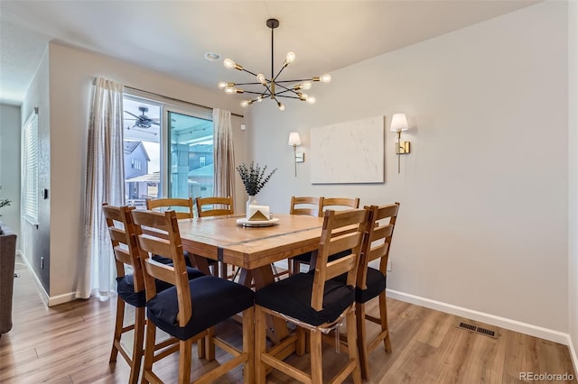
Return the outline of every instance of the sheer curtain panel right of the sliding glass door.
<path id="1" fill-rule="evenodd" d="M 233 151 L 233 128 L 231 113 L 224 109 L 213 109 L 215 137 L 214 196 L 233 197 L 235 202 L 235 151 Z"/>

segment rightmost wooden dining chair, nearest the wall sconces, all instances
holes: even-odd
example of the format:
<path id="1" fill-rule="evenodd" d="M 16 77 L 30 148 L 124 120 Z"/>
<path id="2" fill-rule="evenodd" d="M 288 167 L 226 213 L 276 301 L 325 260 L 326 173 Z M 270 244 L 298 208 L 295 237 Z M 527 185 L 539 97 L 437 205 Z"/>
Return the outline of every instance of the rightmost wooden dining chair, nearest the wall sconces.
<path id="1" fill-rule="evenodd" d="M 396 226 L 399 203 L 387 206 L 366 206 L 369 211 L 366 235 L 361 247 L 358 278 L 356 283 L 356 322 L 358 329 L 359 365 L 361 376 L 369 379 L 368 353 L 375 350 L 379 343 L 384 344 L 386 352 L 391 352 L 391 340 L 387 326 L 387 259 Z M 372 261 L 379 261 L 379 267 L 369 266 Z M 379 297 L 379 317 L 366 313 L 366 303 Z M 368 340 L 366 320 L 378 324 L 380 330 L 372 339 Z"/>

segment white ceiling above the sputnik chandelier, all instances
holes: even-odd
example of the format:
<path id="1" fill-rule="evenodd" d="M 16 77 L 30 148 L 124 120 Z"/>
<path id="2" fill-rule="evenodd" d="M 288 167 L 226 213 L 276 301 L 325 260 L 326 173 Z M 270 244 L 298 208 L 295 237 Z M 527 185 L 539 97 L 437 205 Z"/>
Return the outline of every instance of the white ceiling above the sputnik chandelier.
<path id="1" fill-rule="evenodd" d="M 0 0 L 0 102 L 23 101 L 51 40 L 216 88 L 253 81 L 225 69 L 225 58 L 269 76 L 268 18 L 280 22 L 275 70 L 293 50 L 284 78 L 311 78 L 537 2 Z M 204 59 L 210 51 L 221 59 Z"/>

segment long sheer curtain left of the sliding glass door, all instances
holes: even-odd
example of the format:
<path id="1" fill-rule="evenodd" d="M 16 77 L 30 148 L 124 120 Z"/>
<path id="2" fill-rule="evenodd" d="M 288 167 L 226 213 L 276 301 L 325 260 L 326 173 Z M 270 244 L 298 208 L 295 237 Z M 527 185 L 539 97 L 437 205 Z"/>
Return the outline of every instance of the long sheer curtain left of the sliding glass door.
<path id="1" fill-rule="evenodd" d="M 84 250 L 76 297 L 109 296 L 115 287 L 114 255 L 102 203 L 124 200 L 123 86 L 105 78 L 92 84 L 84 206 Z"/>

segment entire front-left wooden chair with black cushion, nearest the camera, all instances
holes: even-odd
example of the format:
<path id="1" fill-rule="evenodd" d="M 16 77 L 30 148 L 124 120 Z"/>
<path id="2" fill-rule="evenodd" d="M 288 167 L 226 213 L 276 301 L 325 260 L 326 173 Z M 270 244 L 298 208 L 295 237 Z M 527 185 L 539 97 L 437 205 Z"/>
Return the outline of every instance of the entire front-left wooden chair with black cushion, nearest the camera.
<path id="1" fill-rule="evenodd" d="M 186 279 L 183 273 L 185 263 L 181 235 L 175 212 L 134 210 L 131 214 L 137 228 L 154 228 L 154 232 L 137 235 L 137 244 L 143 262 L 148 317 L 142 382 L 162 382 L 154 373 L 154 362 L 174 352 L 179 352 L 178 382 L 191 382 L 192 343 L 206 338 L 207 360 L 214 360 L 215 345 L 233 357 L 203 373 L 193 382 L 213 382 L 242 364 L 245 383 L 252 383 L 254 377 L 254 359 L 251 353 L 254 323 L 253 291 L 227 279 L 210 275 Z M 160 254 L 171 259 L 173 265 L 155 262 L 152 259 L 153 254 Z M 159 292 L 154 285 L 154 279 L 171 283 L 174 287 Z M 213 328 L 214 325 L 238 313 L 242 313 L 243 318 L 242 350 L 221 340 Z M 149 345 L 154 344 L 157 328 L 178 339 L 178 345 L 168 344 L 158 352 L 149 348 Z"/>

